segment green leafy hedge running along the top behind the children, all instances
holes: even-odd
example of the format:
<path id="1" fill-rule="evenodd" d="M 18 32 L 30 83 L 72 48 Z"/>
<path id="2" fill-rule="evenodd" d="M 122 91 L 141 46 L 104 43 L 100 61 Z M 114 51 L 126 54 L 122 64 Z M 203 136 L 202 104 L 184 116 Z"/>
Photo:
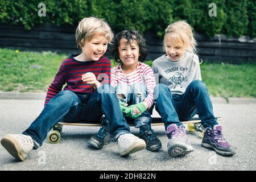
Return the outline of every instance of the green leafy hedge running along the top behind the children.
<path id="1" fill-rule="evenodd" d="M 46 4 L 46 17 L 38 16 L 38 4 Z M 86 16 L 108 20 L 115 32 L 127 28 L 154 31 L 163 36 L 164 28 L 175 20 L 185 19 L 197 32 L 207 36 L 215 34 L 256 36 L 255 0 L 215 0 L 217 16 L 208 11 L 212 0 L 0 0 L 0 23 L 23 24 L 29 30 L 46 22 L 77 24 Z"/>

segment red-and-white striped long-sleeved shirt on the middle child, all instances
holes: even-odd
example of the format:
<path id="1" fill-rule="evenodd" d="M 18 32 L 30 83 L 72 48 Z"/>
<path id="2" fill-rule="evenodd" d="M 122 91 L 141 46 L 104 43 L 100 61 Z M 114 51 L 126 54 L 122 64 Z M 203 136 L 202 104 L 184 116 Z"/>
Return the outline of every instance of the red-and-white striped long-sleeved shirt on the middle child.
<path id="1" fill-rule="evenodd" d="M 144 102 L 150 108 L 154 102 L 154 88 L 155 88 L 155 77 L 152 69 L 144 63 L 139 62 L 136 70 L 128 75 L 123 73 L 121 64 L 114 67 L 111 71 L 111 85 L 117 86 L 119 84 L 131 85 L 135 82 L 143 82 L 147 86 L 147 97 Z"/>

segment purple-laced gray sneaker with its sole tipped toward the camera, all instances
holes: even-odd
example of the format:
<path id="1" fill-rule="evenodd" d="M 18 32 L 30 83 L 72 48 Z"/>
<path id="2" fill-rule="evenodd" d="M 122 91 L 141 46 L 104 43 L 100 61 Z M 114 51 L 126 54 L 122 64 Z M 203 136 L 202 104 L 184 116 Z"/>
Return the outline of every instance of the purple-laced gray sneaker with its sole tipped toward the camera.
<path id="1" fill-rule="evenodd" d="M 184 126 L 172 124 L 167 127 L 167 136 L 170 139 L 167 144 L 169 155 L 173 157 L 184 156 L 194 149 L 189 144 Z"/>

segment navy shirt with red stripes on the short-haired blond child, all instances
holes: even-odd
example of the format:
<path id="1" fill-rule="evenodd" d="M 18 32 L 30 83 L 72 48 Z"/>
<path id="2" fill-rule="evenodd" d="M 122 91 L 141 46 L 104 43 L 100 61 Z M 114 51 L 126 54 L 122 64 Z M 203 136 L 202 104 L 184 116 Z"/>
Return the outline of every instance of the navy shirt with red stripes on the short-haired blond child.
<path id="1" fill-rule="evenodd" d="M 76 94 L 92 94 L 93 86 L 81 80 L 82 75 L 87 72 L 94 73 L 101 84 L 110 84 L 111 62 L 107 57 L 102 56 L 98 61 L 83 62 L 74 59 L 77 55 L 71 55 L 61 63 L 59 71 L 48 88 L 44 105 L 56 96 L 66 83 L 63 90 L 71 90 Z"/>

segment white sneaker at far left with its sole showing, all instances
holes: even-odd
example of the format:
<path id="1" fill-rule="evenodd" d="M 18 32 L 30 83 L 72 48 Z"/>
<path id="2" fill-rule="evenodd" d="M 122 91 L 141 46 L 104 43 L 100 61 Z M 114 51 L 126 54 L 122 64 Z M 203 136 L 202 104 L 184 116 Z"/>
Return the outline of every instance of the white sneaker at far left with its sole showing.
<path id="1" fill-rule="evenodd" d="M 34 147 L 32 138 L 23 134 L 7 134 L 2 138 L 1 144 L 14 158 L 21 161 L 25 160 Z"/>

